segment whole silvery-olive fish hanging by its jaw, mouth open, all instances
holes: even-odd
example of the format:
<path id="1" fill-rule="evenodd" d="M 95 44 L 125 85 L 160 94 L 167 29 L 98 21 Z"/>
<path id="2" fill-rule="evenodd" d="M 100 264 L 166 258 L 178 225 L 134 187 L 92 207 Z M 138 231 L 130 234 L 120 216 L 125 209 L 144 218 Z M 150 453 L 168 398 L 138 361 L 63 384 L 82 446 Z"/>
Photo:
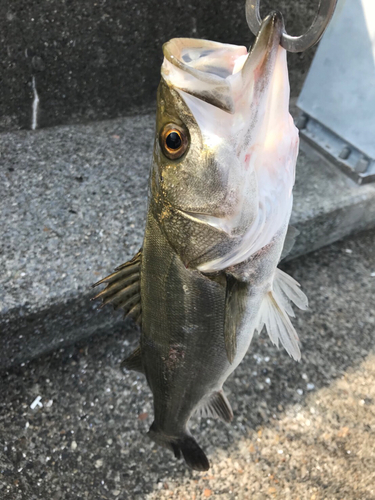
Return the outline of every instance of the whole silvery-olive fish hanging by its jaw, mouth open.
<path id="1" fill-rule="evenodd" d="M 150 438 L 197 471 L 210 464 L 189 421 L 232 421 L 223 384 L 254 333 L 265 327 L 301 357 L 291 304 L 306 309 L 307 298 L 277 267 L 293 236 L 299 143 L 282 30 L 273 12 L 249 51 L 164 44 L 143 245 L 95 284 L 106 285 L 96 299 L 141 326 L 122 366 L 152 391 Z"/>

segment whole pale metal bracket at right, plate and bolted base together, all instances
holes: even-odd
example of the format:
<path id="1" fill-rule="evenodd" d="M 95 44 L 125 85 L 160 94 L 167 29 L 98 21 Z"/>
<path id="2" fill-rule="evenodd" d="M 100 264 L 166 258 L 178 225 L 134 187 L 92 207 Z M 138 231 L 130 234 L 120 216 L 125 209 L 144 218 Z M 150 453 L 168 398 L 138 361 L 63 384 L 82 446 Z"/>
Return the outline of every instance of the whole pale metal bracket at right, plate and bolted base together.
<path id="1" fill-rule="evenodd" d="M 375 0 L 339 0 L 297 101 L 301 136 L 358 184 L 375 181 Z"/>

